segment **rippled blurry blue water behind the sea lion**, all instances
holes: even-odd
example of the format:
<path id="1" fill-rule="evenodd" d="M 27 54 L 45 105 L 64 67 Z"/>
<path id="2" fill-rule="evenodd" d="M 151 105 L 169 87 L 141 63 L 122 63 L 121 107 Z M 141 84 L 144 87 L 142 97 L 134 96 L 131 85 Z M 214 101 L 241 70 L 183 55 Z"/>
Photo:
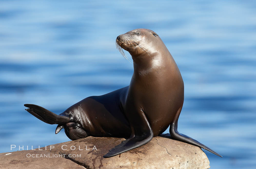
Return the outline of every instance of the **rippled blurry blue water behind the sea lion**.
<path id="1" fill-rule="evenodd" d="M 0 152 L 68 141 L 23 104 L 59 114 L 129 85 L 133 65 L 115 38 L 147 28 L 183 76 L 179 132 L 223 156 L 205 151 L 212 169 L 256 168 L 255 9 L 255 1 L 0 1 Z"/>

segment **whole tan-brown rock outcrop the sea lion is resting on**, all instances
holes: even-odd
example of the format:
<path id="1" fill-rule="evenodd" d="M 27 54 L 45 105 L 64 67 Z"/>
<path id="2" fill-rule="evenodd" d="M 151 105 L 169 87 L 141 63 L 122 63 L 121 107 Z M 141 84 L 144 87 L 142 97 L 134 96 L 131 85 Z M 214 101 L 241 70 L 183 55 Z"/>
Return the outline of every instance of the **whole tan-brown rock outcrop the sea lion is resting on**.
<path id="1" fill-rule="evenodd" d="M 82 138 L 41 148 L 0 154 L 0 168 L 159 168 L 159 169 L 207 169 L 209 160 L 201 148 L 170 139 L 169 134 L 154 137 L 151 142 L 111 158 L 103 158 L 109 149 L 124 138 Z M 53 148 L 54 146 L 54 148 Z M 95 146 L 95 147 L 94 147 Z M 80 150 L 79 150 L 80 149 Z M 97 150 L 96 150 L 97 149 Z M 26 154 L 66 154 L 65 158 L 27 158 Z M 36 152 L 36 153 L 35 153 Z M 69 154 L 69 157 L 68 157 Z M 12 155 L 12 156 L 11 156 Z M 8 158 L 7 158 L 8 157 Z M 8 166 L 8 167 L 7 167 Z M 31 167 L 33 166 L 33 167 Z"/>

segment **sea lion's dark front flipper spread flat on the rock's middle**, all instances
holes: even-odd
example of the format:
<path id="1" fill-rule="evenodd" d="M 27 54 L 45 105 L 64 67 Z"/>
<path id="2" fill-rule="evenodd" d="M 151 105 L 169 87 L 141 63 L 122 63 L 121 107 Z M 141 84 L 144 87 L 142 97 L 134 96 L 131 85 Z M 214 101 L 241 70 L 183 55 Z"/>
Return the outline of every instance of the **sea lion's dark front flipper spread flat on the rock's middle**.
<path id="1" fill-rule="evenodd" d="M 153 138 L 153 132 L 152 134 L 147 136 L 135 136 L 133 138 L 126 139 L 121 144 L 109 150 L 109 152 L 105 154 L 103 157 L 104 158 L 113 157 L 123 152 L 143 146 L 144 144 L 147 144 L 148 142 L 150 142 L 152 138 Z"/>

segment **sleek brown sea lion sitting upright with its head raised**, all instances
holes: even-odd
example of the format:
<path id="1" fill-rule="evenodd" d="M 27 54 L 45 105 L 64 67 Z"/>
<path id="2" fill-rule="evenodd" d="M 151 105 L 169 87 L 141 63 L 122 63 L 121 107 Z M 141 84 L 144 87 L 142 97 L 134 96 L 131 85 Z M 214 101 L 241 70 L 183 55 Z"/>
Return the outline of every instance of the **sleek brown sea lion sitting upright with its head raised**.
<path id="1" fill-rule="evenodd" d="M 184 83 L 172 55 L 152 30 L 135 29 L 116 38 L 118 49 L 133 59 L 130 86 L 101 96 L 90 96 L 60 115 L 25 104 L 30 114 L 48 124 L 58 124 L 71 139 L 91 136 L 126 137 L 103 157 L 113 157 L 140 147 L 170 125 L 170 135 L 180 141 L 217 152 L 177 131 L 184 101 Z M 124 53 L 123 53 L 124 54 Z"/>

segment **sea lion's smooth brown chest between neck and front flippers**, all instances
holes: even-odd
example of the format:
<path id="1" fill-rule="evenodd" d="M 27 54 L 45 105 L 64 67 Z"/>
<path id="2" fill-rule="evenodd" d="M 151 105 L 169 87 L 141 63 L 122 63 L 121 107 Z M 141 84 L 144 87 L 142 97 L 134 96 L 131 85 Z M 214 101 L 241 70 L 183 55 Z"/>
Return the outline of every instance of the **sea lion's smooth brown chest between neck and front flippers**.
<path id="1" fill-rule="evenodd" d="M 142 110 L 154 135 L 164 132 L 184 101 L 184 83 L 176 64 L 134 72 L 129 91 L 137 109 Z"/>

